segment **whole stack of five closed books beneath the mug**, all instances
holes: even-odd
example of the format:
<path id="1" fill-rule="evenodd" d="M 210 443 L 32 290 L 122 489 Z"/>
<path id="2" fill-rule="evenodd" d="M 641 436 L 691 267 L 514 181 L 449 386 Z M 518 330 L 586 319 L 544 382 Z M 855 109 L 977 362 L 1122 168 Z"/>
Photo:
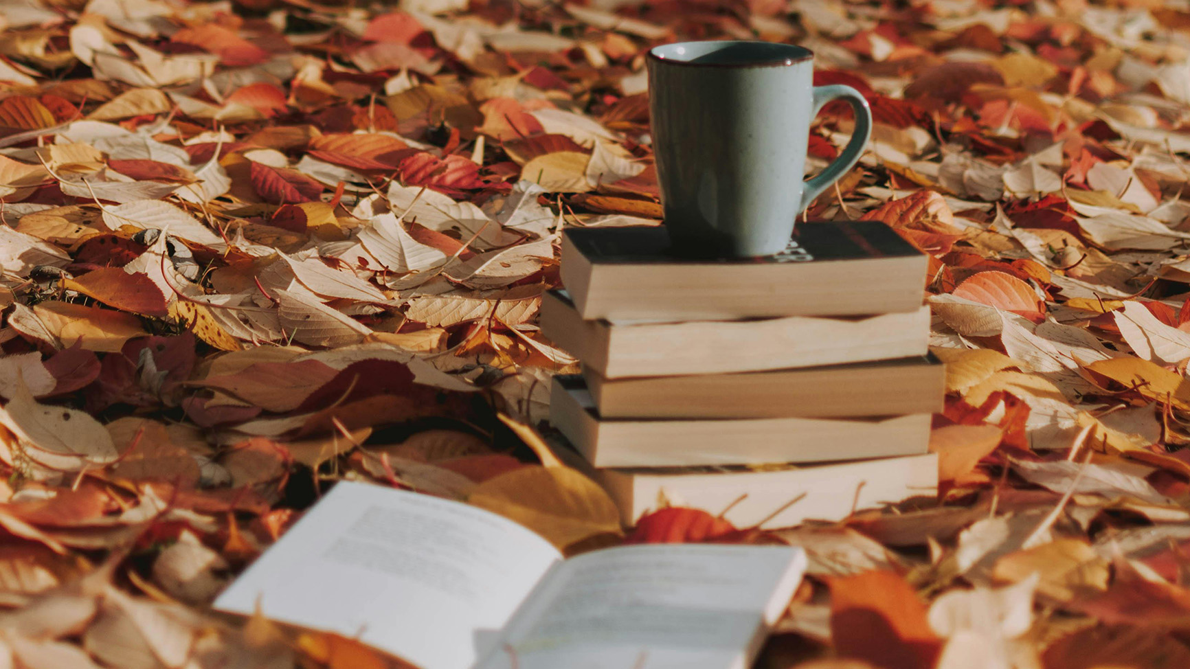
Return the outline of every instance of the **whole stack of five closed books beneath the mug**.
<path id="1" fill-rule="evenodd" d="M 569 229 L 541 304 L 582 362 L 550 420 L 626 524 L 671 504 L 782 527 L 937 493 L 925 255 L 878 221 L 798 224 L 768 258 L 669 248 L 664 227 Z"/>

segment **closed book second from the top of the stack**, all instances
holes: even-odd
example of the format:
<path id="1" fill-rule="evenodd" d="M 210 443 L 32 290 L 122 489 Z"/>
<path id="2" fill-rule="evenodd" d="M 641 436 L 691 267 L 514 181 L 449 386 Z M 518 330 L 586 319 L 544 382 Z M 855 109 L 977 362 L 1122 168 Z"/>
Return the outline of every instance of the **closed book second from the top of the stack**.
<path id="1" fill-rule="evenodd" d="M 600 376 L 757 371 L 908 356 L 929 349 L 929 307 L 866 317 L 745 320 L 583 320 L 565 290 L 549 290 L 541 332 Z"/>

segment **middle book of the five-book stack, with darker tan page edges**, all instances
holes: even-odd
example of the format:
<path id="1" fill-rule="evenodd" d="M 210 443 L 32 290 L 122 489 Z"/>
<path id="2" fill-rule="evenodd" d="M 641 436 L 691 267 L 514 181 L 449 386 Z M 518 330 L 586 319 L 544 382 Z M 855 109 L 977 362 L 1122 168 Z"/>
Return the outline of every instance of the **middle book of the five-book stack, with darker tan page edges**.
<path id="1" fill-rule="evenodd" d="M 942 411 L 946 365 L 933 355 L 699 376 L 606 379 L 583 369 L 608 418 L 848 418 Z"/>

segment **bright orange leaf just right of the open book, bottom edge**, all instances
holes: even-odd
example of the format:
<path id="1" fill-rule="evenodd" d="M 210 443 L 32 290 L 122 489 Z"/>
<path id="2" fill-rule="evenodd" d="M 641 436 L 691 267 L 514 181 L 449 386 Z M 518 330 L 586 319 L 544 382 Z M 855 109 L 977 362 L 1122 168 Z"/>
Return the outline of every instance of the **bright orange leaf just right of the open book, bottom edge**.
<path id="1" fill-rule="evenodd" d="M 929 629 L 926 605 L 895 571 L 828 579 L 831 638 L 835 654 L 884 669 L 929 669 L 941 640 Z"/>

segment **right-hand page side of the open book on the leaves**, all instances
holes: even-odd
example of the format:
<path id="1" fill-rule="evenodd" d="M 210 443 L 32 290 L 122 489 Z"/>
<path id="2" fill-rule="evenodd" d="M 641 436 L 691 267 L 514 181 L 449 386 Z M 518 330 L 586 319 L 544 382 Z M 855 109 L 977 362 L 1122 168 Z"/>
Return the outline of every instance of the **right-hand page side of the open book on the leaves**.
<path id="1" fill-rule="evenodd" d="M 745 667 L 806 569 L 791 546 L 641 545 L 555 567 L 481 669 Z"/>

